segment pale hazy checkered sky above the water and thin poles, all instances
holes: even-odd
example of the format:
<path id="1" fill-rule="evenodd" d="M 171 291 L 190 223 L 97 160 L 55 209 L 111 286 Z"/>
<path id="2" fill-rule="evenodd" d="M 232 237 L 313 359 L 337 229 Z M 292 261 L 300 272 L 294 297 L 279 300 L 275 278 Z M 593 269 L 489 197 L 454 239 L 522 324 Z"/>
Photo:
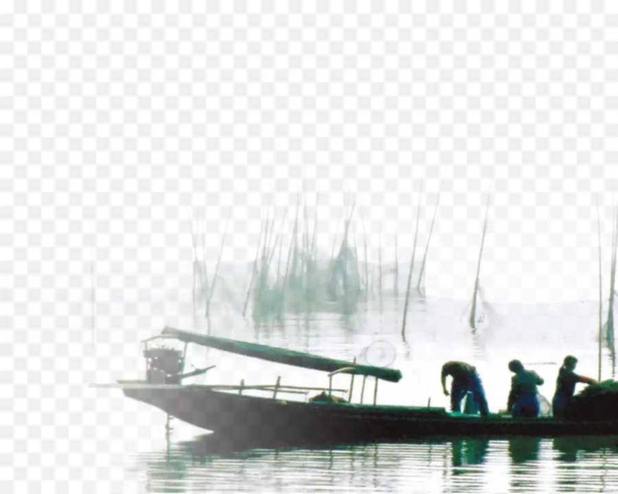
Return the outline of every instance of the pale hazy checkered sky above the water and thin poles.
<path id="1" fill-rule="evenodd" d="M 78 298 L 93 259 L 101 286 L 179 283 L 198 209 L 214 260 L 233 208 L 225 259 L 247 261 L 268 204 L 291 217 L 303 181 L 324 250 L 349 191 L 371 257 L 380 233 L 409 254 L 422 177 L 421 250 L 442 183 L 428 292 L 470 293 L 494 178 L 490 297 L 597 296 L 615 3 L 141 5 L 1 7 L 0 283 L 30 289 L 16 298 Z"/>

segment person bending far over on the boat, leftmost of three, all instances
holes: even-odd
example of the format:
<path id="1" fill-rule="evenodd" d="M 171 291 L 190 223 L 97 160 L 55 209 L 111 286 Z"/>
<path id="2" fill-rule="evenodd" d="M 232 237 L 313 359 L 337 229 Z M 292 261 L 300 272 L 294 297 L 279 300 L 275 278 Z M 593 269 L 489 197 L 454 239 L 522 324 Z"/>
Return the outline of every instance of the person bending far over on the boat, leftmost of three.
<path id="1" fill-rule="evenodd" d="M 488 416 L 487 398 L 485 397 L 485 390 L 477 373 L 477 368 L 466 364 L 466 362 L 446 362 L 442 366 L 442 390 L 444 391 L 444 396 L 448 396 L 448 390 L 446 390 L 446 377 L 448 376 L 453 378 L 450 384 L 450 410 L 461 412 L 461 400 L 470 392 L 481 415 Z"/>

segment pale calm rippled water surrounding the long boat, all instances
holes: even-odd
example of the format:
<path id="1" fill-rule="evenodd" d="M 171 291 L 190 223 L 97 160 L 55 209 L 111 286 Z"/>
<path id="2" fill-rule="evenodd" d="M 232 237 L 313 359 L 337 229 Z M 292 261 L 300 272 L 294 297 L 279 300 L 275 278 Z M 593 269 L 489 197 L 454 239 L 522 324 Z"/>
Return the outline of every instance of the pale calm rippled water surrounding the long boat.
<path id="1" fill-rule="evenodd" d="M 387 340 L 396 348 L 393 365 L 404 378 L 398 384 L 380 383 L 381 403 L 425 405 L 431 398 L 432 405 L 448 406 L 439 369 L 450 359 L 477 365 L 495 411 L 505 408 L 510 384 L 506 365 L 512 358 L 529 362 L 545 377 L 542 394 L 548 398 L 558 365 L 547 362 L 558 363 L 574 353 L 580 358 L 581 373 L 597 375 L 594 303 L 496 306 L 500 319 L 472 335 L 462 318 L 464 303 L 415 301 L 405 342 L 400 336 L 401 305 L 385 302 L 381 309 L 373 305 L 349 317 L 324 313 L 309 320 L 290 317 L 283 325 L 270 327 L 221 311 L 211 318 L 210 328 L 214 335 L 345 359 L 360 355 L 371 342 Z M 141 377 L 141 338 L 164 325 L 207 331 L 206 321 L 202 316 L 194 318 L 190 305 L 157 316 L 129 318 L 123 315 L 122 304 L 114 303 L 100 303 L 96 321 L 96 346 L 87 331 L 69 332 L 66 338 L 43 335 L 38 345 L 41 355 L 31 350 L 25 359 L 30 373 L 17 373 L 13 390 L 17 413 L 10 436 L 5 435 L 12 437 L 15 451 L 12 460 L 5 462 L 12 461 L 12 475 L 8 475 L 16 479 L 15 492 L 618 491 L 616 438 L 457 440 L 230 454 L 213 447 L 204 431 L 174 421 L 168 440 L 162 412 L 124 399 L 119 390 L 93 389 L 87 384 Z M 36 337 L 28 338 L 32 349 Z M 280 375 L 282 384 L 328 386 L 321 373 L 197 346 L 190 347 L 187 357 L 196 367 L 216 364 L 211 373 L 196 379 L 199 382 L 237 384 L 244 378 L 247 384 L 274 384 Z M 36 362 L 38 368 L 33 371 Z M 604 378 L 611 377 L 611 371 L 604 349 Z M 334 386 L 347 388 L 348 379 L 339 377 Z M 30 411 L 20 414 L 25 406 Z M 7 439 L 3 441 L 8 447 Z"/>

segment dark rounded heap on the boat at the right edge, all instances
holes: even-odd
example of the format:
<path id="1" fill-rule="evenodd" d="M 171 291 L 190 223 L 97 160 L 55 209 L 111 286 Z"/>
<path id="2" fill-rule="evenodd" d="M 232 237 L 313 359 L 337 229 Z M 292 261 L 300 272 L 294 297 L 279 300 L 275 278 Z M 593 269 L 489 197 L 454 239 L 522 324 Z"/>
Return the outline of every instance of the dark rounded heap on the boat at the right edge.
<path id="1" fill-rule="evenodd" d="M 570 420 L 617 420 L 618 381 L 608 379 L 586 386 L 573 396 L 565 414 Z"/>

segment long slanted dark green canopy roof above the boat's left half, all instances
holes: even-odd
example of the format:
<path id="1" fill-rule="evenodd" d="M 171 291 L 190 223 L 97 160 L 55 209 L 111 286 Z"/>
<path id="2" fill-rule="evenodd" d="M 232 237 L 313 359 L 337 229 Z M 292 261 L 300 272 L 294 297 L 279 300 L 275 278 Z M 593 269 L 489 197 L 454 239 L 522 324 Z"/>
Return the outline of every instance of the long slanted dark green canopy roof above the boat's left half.
<path id="1" fill-rule="evenodd" d="M 206 336 L 190 331 L 181 331 L 172 327 L 165 327 L 161 331 L 163 336 L 173 336 L 187 343 L 196 343 L 203 346 L 247 357 L 255 357 L 268 362 L 277 362 L 295 367 L 310 368 L 314 371 L 324 371 L 332 373 L 342 368 L 350 368 L 347 373 L 376 377 L 385 381 L 398 382 L 402 378 L 401 371 L 387 367 L 374 367 L 345 362 L 345 360 L 334 360 L 328 357 L 320 357 L 310 353 L 303 353 L 288 349 L 277 348 L 258 343 L 242 342 L 218 338 L 216 336 Z"/>

